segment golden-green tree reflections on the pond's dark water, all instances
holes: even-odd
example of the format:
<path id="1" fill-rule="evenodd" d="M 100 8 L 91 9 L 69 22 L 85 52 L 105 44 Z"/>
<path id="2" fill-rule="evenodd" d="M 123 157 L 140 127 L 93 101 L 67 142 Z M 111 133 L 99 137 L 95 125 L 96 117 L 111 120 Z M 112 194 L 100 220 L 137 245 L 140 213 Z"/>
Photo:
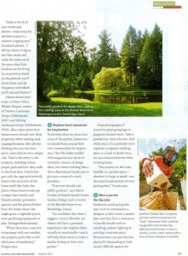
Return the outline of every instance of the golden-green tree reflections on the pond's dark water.
<path id="1" fill-rule="evenodd" d="M 94 102 L 115 104 L 138 104 L 146 102 L 162 102 L 162 96 L 122 96 L 122 95 L 94 95 Z"/>

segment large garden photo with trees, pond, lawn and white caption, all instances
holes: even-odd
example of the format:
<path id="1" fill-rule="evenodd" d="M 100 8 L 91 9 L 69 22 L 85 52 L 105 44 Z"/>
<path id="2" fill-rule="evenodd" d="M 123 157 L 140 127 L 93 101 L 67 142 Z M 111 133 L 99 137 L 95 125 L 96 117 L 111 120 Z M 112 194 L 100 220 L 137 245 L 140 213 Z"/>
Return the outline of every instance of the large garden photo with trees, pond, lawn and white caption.
<path id="1" fill-rule="evenodd" d="M 162 30 L 128 26 L 118 51 L 86 21 L 37 21 L 37 116 L 162 116 Z"/>

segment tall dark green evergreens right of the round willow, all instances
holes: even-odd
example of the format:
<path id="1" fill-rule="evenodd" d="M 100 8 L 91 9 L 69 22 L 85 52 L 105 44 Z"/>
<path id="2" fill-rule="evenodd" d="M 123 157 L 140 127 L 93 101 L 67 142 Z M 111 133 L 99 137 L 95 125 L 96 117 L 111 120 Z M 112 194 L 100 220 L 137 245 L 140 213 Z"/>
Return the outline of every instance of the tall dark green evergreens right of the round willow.
<path id="1" fill-rule="evenodd" d="M 154 27 L 151 35 L 147 30 L 142 35 L 129 26 L 120 55 L 127 84 L 162 88 L 162 32 L 159 26 Z"/>

